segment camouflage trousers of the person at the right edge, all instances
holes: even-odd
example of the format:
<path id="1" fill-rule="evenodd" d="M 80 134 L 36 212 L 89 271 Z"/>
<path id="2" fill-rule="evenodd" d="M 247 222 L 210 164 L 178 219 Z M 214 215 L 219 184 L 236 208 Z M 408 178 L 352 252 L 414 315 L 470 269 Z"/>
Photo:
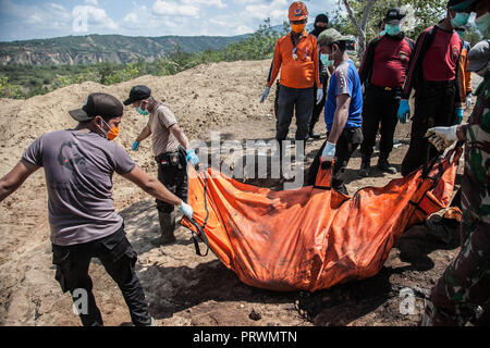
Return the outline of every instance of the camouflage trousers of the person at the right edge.
<path id="1" fill-rule="evenodd" d="M 488 308 L 490 303 L 488 189 L 485 185 L 465 184 L 469 183 L 463 183 L 462 190 L 462 248 L 431 290 L 422 320 L 425 326 L 464 326 L 475 316 L 477 306 Z M 470 199 L 465 192 L 486 196 Z"/>

